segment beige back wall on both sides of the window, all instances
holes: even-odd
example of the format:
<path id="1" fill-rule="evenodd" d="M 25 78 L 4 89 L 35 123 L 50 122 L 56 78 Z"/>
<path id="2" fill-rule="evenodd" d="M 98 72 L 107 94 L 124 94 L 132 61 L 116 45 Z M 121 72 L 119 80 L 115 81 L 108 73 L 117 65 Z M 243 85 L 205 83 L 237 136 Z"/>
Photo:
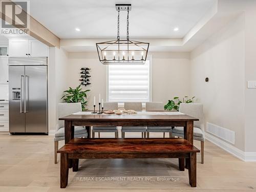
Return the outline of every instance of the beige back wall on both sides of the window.
<path id="1" fill-rule="evenodd" d="M 167 102 L 174 96 L 185 96 L 189 92 L 189 53 L 153 52 L 152 55 L 152 100 Z M 88 67 L 90 71 L 90 89 L 88 94 L 88 108 L 93 109 L 93 96 L 105 99 L 106 69 L 102 65 L 96 52 L 69 53 L 69 81 L 68 86 L 75 87 L 79 82 L 81 67 Z M 180 75 L 182 74 L 182 75 Z"/>

